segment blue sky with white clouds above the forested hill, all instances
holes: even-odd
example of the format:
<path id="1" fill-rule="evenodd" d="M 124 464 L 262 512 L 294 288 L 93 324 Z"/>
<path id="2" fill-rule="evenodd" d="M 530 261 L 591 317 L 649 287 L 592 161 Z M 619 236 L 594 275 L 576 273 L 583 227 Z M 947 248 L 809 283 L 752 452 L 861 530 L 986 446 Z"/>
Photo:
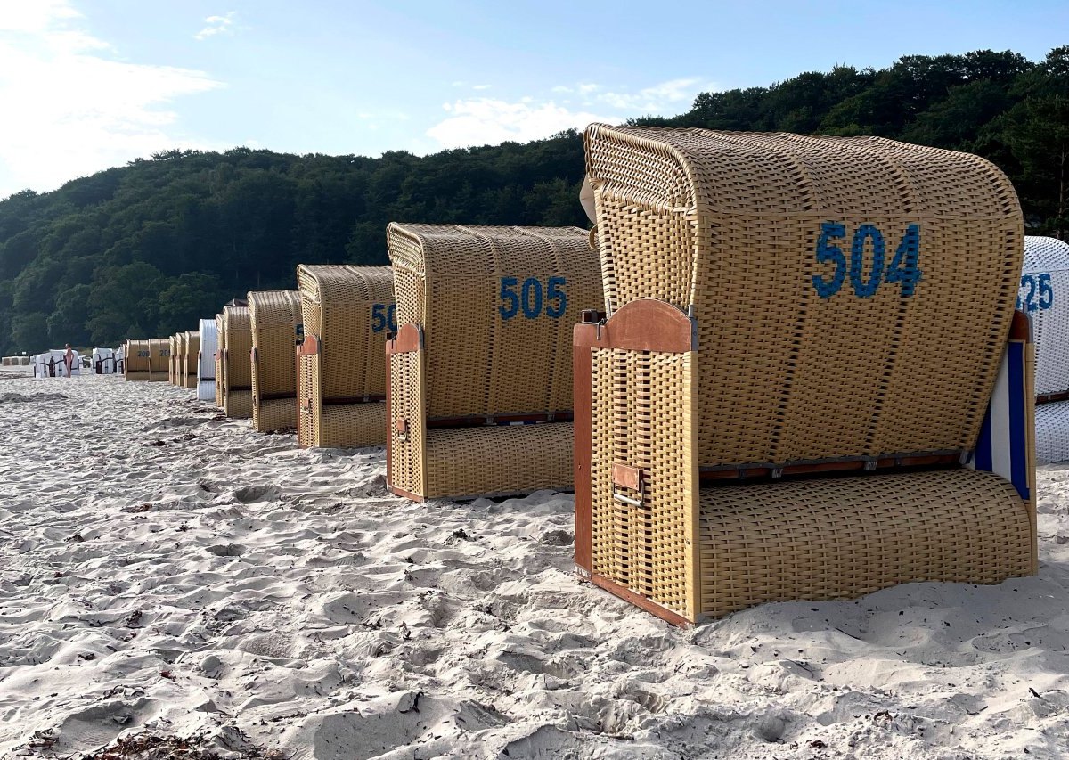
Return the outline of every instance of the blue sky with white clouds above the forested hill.
<path id="1" fill-rule="evenodd" d="M 176 148 L 424 155 L 1066 44 L 1066 0 L 0 0 L 0 199 Z"/>

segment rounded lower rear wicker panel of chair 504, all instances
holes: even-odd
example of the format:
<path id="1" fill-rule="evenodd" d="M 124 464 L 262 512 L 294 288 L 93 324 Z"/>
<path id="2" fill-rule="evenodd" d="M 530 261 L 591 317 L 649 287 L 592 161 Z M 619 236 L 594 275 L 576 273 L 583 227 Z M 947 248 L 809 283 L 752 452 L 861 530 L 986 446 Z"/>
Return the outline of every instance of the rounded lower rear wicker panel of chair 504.
<path id="1" fill-rule="evenodd" d="M 1032 573 L 1027 508 L 1006 480 L 969 469 L 703 488 L 700 523 L 710 616 Z"/>

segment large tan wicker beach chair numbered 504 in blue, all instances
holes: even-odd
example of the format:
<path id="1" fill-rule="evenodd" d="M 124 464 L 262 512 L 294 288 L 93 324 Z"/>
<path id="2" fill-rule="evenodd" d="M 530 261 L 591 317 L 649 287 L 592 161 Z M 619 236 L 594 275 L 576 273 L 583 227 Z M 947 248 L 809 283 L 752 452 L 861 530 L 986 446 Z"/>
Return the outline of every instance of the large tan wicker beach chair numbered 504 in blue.
<path id="1" fill-rule="evenodd" d="M 1001 171 L 880 138 L 594 125 L 586 151 L 580 575 L 688 624 L 1036 571 Z"/>

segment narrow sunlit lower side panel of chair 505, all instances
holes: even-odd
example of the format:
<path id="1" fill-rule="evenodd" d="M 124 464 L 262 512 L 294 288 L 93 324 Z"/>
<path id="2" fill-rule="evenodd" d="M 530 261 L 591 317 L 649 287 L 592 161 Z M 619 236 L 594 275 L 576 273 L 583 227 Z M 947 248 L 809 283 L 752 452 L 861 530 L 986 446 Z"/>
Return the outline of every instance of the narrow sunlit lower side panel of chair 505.
<path id="1" fill-rule="evenodd" d="M 424 352 L 392 354 L 390 370 L 389 485 L 417 496 L 427 494 L 427 368 Z M 404 388 L 404 392 L 394 392 Z M 401 433 L 394 420 L 408 420 Z"/>

